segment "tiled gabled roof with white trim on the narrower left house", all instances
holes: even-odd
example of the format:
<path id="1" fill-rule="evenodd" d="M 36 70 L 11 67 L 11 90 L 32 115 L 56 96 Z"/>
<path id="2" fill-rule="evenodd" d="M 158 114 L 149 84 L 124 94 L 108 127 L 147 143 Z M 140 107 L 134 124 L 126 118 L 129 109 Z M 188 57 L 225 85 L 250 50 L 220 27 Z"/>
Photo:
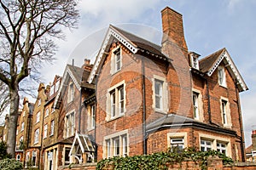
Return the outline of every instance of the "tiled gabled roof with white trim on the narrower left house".
<path id="1" fill-rule="evenodd" d="M 75 84 L 75 87 L 81 90 L 81 80 L 82 80 L 82 74 L 83 74 L 83 69 L 74 65 L 67 65 L 66 69 L 63 74 L 63 79 L 61 80 L 61 86 L 59 88 L 58 94 L 56 95 L 55 98 L 55 103 L 54 103 L 54 108 L 57 105 L 58 102 L 60 102 L 61 95 L 64 94 L 67 86 L 68 77 L 70 77 Z"/>

